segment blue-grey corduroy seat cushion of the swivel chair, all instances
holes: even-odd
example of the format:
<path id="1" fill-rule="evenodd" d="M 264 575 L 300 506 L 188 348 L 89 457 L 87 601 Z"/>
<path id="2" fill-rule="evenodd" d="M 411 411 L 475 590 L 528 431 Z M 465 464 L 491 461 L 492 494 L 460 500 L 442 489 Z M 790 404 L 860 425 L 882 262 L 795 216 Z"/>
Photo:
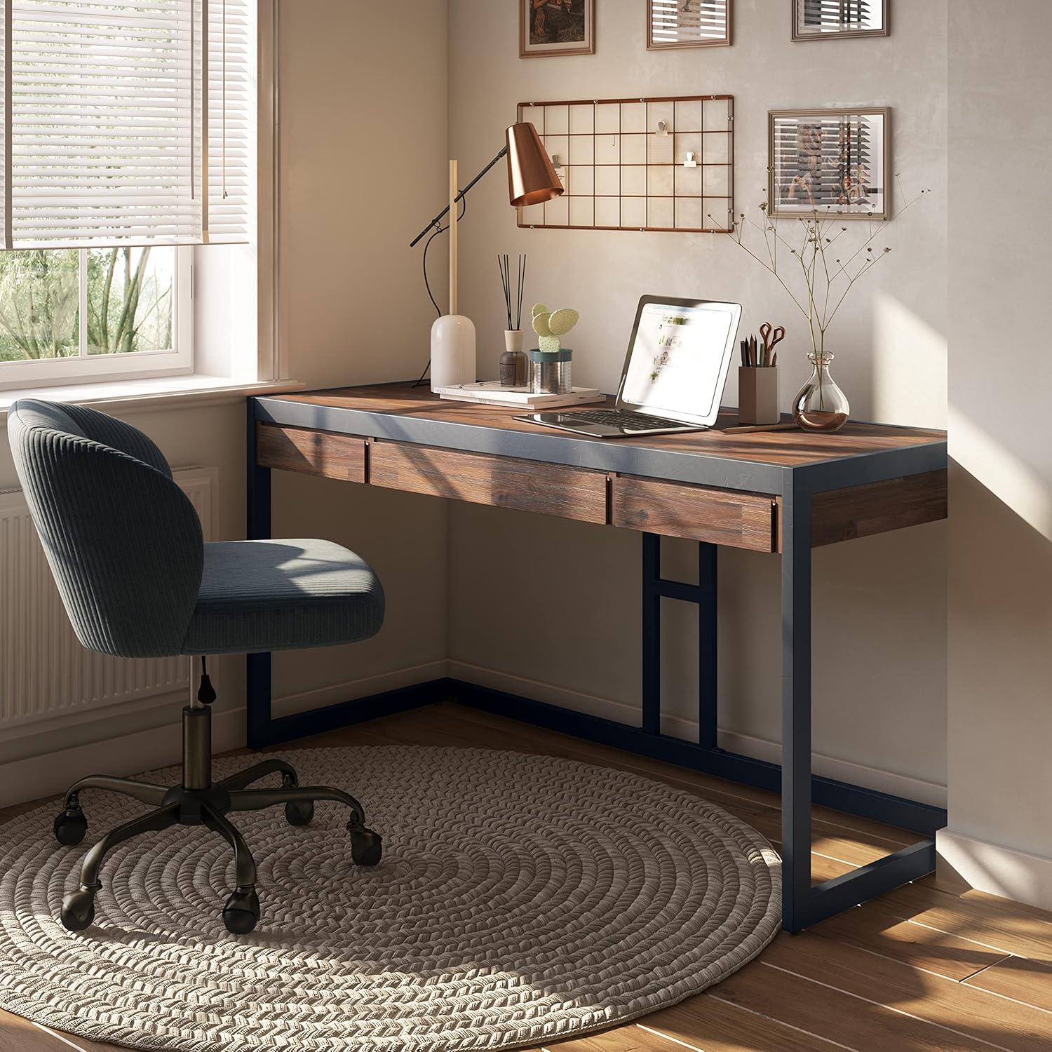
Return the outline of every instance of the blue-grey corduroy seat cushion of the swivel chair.
<path id="1" fill-rule="evenodd" d="M 330 541 L 225 541 L 204 546 L 204 572 L 183 653 L 251 653 L 355 643 L 384 620 L 369 565 Z"/>

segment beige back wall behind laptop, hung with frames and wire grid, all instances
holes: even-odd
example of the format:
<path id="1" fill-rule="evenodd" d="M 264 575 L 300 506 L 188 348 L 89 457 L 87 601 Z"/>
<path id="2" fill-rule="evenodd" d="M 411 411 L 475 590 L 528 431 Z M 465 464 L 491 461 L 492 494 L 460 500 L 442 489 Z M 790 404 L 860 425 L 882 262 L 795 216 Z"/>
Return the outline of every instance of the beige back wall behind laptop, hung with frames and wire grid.
<path id="1" fill-rule="evenodd" d="M 892 106 L 894 167 L 909 194 L 934 193 L 889 229 L 893 256 L 845 308 L 827 346 L 835 349 L 834 373 L 857 418 L 944 424 L 945 0 L 896 4 L 887 40 L 801 44 L 789 39 L 788 4 L 737 0 L 733 47 L 672 52 L 646 50 L 642 2 L 605 0 L 594 56 L 525 61 L 518 58 L 517 6 L 450 2 L 450 143 L 468 174 L 494 153 L 522 100 L 731 93 L 737 210 L 752 210 L 763 200 L 769 108 Z M 482 376 L 495 375 L 503 328 L 493 256 L 527 251 L 528 302 L 581 310 L 578 382 L 615 388 L 644 292 L 737 300 L 744 331 L 765 319 L 784 322 L 786 404 L 806 379 L 807 344 L 794 308 L 728 239 L 520 230 L 503 183 L 492 177 L 472 193 L 461 232 L 461 309 L 478 327 Z M 732 370 L 728 404 L 736 402 L 735 383 Z M 945 549 L 946 528 L 936 524 L 816 553 L 815 749 L 826 757 L 820 770 L 944 798 Z M 518 567 L 508 568 L 509 552 Z M 689 570 L 692 554 L 689 546 L 670 550 L 670 565 Z M 571 573 L 574 600 L 591 600 L 587 616 L 560 592 L 558 573 L 546 579 L 538 566 Z M 762 740 L 747 737 L 744 747 L 770 755 L 780 726 L 777 561 L 723 552 L 720 572 L 721 723 Z M 466 666 L 454 670 L 630 719 L 639 699 L 639 539 L 631 534 L 451 507 L 450 656 Z M 689 733 L 696 616 L 666 606 L 665 710 L 671 730 Z M 888 773 L 903 777 L 889 782 Z"/>

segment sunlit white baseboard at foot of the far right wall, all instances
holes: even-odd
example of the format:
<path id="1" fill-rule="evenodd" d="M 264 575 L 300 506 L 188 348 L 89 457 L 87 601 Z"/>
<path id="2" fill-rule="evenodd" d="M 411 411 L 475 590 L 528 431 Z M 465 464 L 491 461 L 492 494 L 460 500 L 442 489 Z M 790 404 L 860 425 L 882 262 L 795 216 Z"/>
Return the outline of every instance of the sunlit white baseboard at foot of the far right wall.
<path id="1" fill-rule="evenodd" d="M 935 834 L 939 868 L 976 891 L 1052 910 L 1052 858 L 1027 854 L 940 829 Z M 950 875 L 950 874 L 947 874 Z"/>

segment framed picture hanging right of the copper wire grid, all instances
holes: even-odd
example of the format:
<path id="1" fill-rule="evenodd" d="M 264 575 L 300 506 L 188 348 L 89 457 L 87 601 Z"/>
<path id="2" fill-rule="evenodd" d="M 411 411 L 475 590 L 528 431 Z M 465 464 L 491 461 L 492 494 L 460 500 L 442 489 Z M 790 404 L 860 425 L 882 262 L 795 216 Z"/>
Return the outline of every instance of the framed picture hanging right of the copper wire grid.
<path id="1" fill-rule="evenodd" d="M 888 218 L 889 108 L 782 109 L 768 121 L 770 215 Z"/>

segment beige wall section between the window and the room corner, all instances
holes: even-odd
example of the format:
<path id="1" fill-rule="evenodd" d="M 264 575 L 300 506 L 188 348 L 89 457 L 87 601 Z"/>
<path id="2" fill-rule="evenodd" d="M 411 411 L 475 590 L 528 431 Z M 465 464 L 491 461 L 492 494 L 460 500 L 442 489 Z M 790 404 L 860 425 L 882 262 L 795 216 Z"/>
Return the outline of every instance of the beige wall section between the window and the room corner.
<path id="1" fill-rule="evenodd" d="M 446 5 L 284 0 L 281 6 L 282 336 L 308 387 L 401 380 L 427 362 L 430 304 L 409 241 L 446 168 Z M 398 23 L 396 26 L 394 23 Z M 439 501 L 275 474 L 276 535 L 327 537 L 376 566 L 373 640 L 283 654 L 291 708 L 436 674 L 446 647 L 446 510 Z M 437 674 L 443 674 L 444 669 Z M 358 683 L 358 681 L 366 681 Z"/>

